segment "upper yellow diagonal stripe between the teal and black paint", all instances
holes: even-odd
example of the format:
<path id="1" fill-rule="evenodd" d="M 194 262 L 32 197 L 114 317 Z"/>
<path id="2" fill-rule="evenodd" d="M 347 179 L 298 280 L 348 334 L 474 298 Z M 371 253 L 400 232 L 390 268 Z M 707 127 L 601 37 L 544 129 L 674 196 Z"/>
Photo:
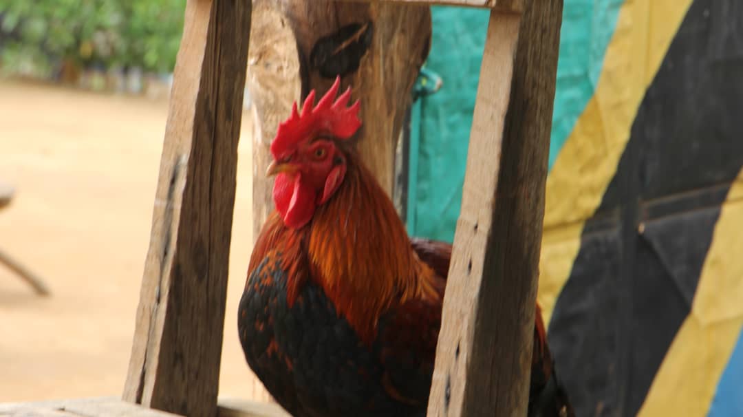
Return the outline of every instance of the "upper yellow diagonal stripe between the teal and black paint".
<path id="1" fill-rule="evenodd" d="M 692 0 L 626 0 L 594 97 L 547 178 L 538 300 L 549 323 L 580 249 L 585 220 L 601 203 L 637 109 Z"/>

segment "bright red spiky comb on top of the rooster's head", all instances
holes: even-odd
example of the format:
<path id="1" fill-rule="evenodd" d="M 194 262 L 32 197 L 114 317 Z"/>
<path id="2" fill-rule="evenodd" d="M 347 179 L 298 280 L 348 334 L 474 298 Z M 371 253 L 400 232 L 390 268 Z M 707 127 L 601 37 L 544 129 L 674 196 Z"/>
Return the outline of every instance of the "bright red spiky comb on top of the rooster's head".
<path id="1" fill-rule="evenodd" d="M 336 77 L 333 86 L 314 106 L 315 91 L 310 91 L 305 103 L 302 104 L 302 114 L 296 110 L 296 102 L 291 108 L 291 116 L 279 125 L 276 138 L 271 143 L 271 153 L 274 158 L 286 152 L 291 146 L 311 135 L 329 135 L 338 139 L 348 139 L 356 133 L 361 126 L 358 114 L 360 109 L 359 100 L 351 107 L 346 107 L 351 99 L 351 87 L 348 87 L 338 100 L 333 101 L 338 88 L 340 77 Z"/>

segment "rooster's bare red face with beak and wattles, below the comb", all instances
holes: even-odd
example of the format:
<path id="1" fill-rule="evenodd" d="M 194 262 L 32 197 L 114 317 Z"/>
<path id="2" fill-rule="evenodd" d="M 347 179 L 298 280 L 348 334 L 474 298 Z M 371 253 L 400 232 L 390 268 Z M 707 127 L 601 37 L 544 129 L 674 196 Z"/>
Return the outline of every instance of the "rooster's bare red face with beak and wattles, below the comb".
<path id="1" fill-rule="evenodd" d="M 278 174 L 273 202 L 284 224 L 295 229 L 308 224 L 316 207 L 328 201 L 343 182 L 345 168 L 343 152 L 326 138 L 304 140 L 278 155 L 267 174 Z"/>

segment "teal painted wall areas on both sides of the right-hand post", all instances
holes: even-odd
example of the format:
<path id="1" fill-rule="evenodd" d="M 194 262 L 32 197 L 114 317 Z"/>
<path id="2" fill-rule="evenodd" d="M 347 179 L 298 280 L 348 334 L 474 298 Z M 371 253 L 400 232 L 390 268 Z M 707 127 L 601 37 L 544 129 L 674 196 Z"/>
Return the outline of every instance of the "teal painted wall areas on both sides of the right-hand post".
<path id="1" fill-rule="evenodd" d="M 594 94 L 606 46 L 623 0 L 565 0 L 557 65 L 557 93 L 550 168 Z M 452 242 L 459 209 L 467 145 L 484 51 L 489 12 L 432 7 L 433 37 L 426 68 L 444 80 L 437 93 L 413 110 L 409 187 L 415 201 L 408 229 L 415 236 Z M 415 115 L 419 114 L 419 117 Z"/>

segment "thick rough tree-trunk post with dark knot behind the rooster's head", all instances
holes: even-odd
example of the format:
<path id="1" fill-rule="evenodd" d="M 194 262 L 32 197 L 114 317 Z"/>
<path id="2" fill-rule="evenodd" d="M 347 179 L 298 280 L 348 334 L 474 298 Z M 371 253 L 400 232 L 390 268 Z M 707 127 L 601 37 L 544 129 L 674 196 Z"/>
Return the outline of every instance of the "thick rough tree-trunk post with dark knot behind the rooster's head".
<path id="1" fill-rule="evenodd" d="M 254 236 L 273 210 L 273 184 L 264 172 L 270 162 L 268 146 L 278 123 L 288 117 L 291 104 L 304 100 L 311 89 L 317 89 L 320 96 L 330 88 L 335 76 L 321 75 L 311 60 L 313 48 L 319 39 L 348 25 L 371 30 L 371 43 L 360 57 L 358 68 L 342 74 L 341 89 L 351 85 L 354 89 L 351 100 L 358 98 L 362 102 L 360 118 L 364 124 L 354 146 L 392 195 L 396 143 L 410 105 L 409 93 L 430 46 L 429 7 L 331 0 L 256 0 L 254 10 L 256 31 L 251 36 L 248 68 L 248 88 L 256 108 L 255 125 L 259 133 L 253 143 Z"/>

